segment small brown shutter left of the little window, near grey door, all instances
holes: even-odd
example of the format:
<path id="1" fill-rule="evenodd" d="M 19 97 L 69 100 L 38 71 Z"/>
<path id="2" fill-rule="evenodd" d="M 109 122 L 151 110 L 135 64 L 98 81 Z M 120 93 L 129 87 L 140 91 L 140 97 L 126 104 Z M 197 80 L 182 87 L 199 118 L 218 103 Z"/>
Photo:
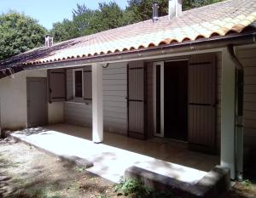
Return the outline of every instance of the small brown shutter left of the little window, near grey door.
<path id="1" fill-rule="evenodd" d="M 66 99 L 66 70 L 56 69 L 48 71 L 49 103 Z"/>

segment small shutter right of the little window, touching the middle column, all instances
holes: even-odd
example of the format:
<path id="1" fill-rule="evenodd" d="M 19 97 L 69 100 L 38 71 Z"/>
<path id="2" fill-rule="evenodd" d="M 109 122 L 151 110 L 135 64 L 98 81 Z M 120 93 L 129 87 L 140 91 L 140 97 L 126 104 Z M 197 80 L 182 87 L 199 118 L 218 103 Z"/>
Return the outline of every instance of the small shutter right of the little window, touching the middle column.
<path id="1" fill-rule="evenodd" d="M 84 99 L 92 99 L 91 65 L 84 66 Z"/>

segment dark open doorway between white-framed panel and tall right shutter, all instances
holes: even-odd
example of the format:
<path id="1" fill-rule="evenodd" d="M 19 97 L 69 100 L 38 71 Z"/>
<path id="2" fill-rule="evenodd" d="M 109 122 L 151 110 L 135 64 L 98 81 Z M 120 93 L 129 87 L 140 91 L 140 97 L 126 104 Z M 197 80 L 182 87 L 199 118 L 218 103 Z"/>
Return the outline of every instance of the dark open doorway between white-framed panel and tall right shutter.
<path id="1" fill-rule="evenodd" d="M 165 63 L 165 137 L 188 139 L 188 61 Z"/>

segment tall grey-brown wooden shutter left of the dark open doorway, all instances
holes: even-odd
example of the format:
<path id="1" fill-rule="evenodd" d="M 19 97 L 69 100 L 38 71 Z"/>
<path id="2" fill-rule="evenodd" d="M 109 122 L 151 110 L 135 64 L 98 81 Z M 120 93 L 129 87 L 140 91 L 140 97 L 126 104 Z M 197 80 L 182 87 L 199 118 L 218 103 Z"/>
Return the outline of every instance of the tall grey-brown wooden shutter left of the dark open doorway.
<path id="1" fill-rule="evenodd" d="M 146 138 L 145 69 L 142 61 L 128 65 L 128 136 Z"/>

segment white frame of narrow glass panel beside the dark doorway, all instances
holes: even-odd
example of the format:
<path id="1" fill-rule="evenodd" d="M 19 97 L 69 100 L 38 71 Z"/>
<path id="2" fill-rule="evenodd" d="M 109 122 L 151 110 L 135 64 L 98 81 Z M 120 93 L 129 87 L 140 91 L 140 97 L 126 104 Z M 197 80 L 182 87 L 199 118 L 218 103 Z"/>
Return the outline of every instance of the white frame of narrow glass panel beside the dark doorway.
<path id="1" fill-rule="evenodd" d="M 160 133 L 156 133 L 156 65 L 160 65 Z M 165 78 L 164 78 L 164 61 L 154 62 L 153 63 L 153 122 L 154 122 L 154 136 L 164 137 L 165 134 L 165 104 L 164 104 L 164 95 L 165 95 Z"/>

